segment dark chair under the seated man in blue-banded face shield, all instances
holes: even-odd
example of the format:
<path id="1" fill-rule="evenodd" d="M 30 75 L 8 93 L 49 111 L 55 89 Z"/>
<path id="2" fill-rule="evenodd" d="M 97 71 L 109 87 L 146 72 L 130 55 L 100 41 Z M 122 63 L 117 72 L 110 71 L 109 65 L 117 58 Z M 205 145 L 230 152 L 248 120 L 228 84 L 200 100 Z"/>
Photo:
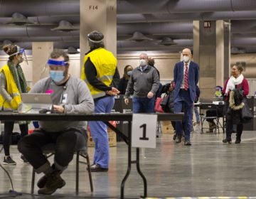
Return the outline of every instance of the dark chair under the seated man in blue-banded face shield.
<path id="1" fill-rule="evenodd" d="M 46 158 L 49 158 L 50 156 L 53 156 L 55 154 L 55 144 L 46 144 L 43 146 L 43 154 L 45 154 Z M 76 154 L 76 166 L 75 166 L 75 194 L 78 195 L 79 191 L 79 163 L 84 163 L 87 165 L 87 171 L 90 181 L 90 190 L 93 192 L 93 184 L 92 184 L 92 173 L 90 170 L 90 160 L 89 156 L 87 154 L 86 147 L 83 147 L 82 149 L 79 149 L 74 152 Z M 79 161 L 80 156 L 86 159 L 86 162 Z M 33 168 L 32 173 L 32 181 L 31 181 L 31 194 L 34 193 L 34 186 L 35 186 L 35 174 L 36 171 Z"/>

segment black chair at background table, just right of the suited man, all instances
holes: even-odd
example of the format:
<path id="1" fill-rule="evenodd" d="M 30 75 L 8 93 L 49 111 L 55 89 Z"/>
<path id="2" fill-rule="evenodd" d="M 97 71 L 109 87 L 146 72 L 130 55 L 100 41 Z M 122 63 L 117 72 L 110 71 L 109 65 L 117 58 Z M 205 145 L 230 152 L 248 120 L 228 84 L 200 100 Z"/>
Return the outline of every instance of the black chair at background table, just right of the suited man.
<path id="1" fill-rule="evenodd" d="M 203 134 L 203 129 L 208 129 L 208 128 L 203 128 L 203 122 L 206 119 L 212 119 L 215 121 L 216 128 L 214 130 L 214 133 L 216 134 L 216 131 L 218 129 L 218 134 L 220 134 L 220 128 L 223 129 L 223 125 L 220 124 L 220 117 L 223 117 L 223 115 L 219 115 L 218 113 L 218 105 L 212 104 L 212 103 L 201 103 L 200 104 L 200 120 L 201 120 L 201 134 Z M 206 111 L 207 110 L 213 110 L 215 112 L 215 116 L 206 116 Z"/>

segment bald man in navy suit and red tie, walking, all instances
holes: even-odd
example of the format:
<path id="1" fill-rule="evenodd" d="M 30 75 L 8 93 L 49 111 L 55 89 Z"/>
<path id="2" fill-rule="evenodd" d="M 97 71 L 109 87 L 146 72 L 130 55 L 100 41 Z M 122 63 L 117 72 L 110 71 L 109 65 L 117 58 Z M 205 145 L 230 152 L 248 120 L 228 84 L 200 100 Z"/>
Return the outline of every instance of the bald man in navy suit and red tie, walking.
<path id="1" fill-rule="evenodd" d="M 199 77 L 199 66 L 191 61 L 191 50 L 182 50 L 183 60 L 174 66 L 174 112 L 184 112 L 185 145 L 191 146 L 190 133 L 192 129 L 193 101 L 196 97 L 196 85 Z M 182 122 L 176 122 L 176 143 L 181 142 Z"/>

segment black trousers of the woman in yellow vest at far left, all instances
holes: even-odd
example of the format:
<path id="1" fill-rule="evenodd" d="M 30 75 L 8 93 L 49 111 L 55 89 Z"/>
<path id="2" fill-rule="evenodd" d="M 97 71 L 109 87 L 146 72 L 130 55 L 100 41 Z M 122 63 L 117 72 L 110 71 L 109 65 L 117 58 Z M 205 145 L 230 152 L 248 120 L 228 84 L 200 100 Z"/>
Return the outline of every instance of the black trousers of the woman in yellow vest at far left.
<path id="1" fill-rule="evenodd" d="M 21 130 L 21 137 L 28 134 L 28 124 L 20 124 L 19 128 Z M 10 144 L 11 144 L 11 134 L 14 130 L 14 122 L 4 122 L 4 155 L 10 156 Z"/>

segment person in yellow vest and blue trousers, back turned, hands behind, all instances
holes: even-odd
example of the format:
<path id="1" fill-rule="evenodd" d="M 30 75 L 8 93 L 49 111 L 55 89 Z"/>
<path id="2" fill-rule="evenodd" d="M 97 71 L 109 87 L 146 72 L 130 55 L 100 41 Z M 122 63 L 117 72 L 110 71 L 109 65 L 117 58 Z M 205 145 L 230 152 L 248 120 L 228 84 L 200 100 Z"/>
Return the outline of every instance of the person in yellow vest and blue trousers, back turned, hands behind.
<path id="1" fill-rule="evenodd" d="M 95 113 L 110 113 L 114 107 L 114 95 L 119 93 L 117 59 L 104 48 L 103 34 L 92 31 L 88 34 L 90 51 L 85 54 L 81 79 L 87 83 L 95 101 Z M 89 122 L 90 133 L 95 141 L 92 172 L 108 171 L 110 161 L 107 125 L 104 122 Z"/>

